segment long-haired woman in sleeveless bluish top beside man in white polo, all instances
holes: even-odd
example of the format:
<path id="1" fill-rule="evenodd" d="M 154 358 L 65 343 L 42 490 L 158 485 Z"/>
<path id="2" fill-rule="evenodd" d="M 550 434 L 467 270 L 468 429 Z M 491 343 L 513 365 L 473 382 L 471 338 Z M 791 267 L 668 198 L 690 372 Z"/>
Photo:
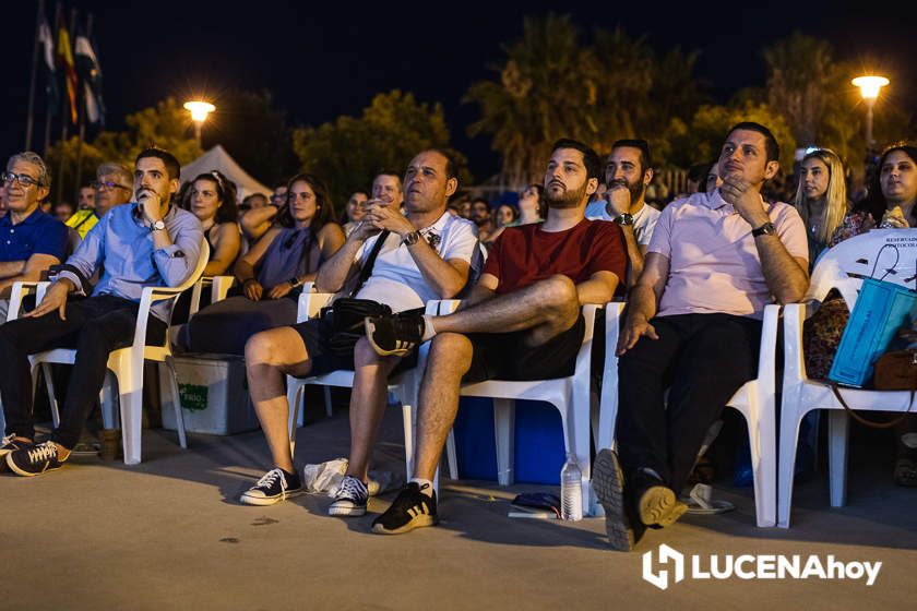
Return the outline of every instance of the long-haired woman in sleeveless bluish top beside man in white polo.
<path id="1" fill-rule="evenodd" d="M 275 226 L 236 263 L 241 295 L 195 314 L 188 325 L 188 348 L 243 355 L 255 333 L 294 324 L 302 285 L 315 278 L 344 239 L 324 181 L 308 173 L 295 176 Z"/>

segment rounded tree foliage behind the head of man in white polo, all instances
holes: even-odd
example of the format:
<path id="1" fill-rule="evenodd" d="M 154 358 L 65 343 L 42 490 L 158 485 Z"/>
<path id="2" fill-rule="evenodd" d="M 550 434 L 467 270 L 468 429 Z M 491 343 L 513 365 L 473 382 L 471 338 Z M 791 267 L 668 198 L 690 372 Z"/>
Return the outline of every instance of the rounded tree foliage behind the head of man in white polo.
<path id="1" fill-rule="evenodd" d="M 380 169 L 401 175 L 417 153 L 431 147 L 452 155 L 462 170 L 460 182 L 467 179 L 465 157 L 450 145 L 442 106 L 418 103 L 397 89 L 373 97 L 360 117 L 342 116 L 293 133 L 302 170 L 327 181 L 338 211 L 352 192 L 369 189 Z"/>

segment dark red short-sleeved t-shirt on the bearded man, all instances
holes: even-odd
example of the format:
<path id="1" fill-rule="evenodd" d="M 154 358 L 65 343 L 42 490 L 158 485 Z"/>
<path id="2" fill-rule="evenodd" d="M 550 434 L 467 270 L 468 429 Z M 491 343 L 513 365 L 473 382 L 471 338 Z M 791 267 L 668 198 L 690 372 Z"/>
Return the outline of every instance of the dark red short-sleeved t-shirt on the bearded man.
<path id="1" fill-rule="evenodd" d="M 620 281 L 627 266 L 621 228 L 607 220 L 583 219 L 565 231 L 545 231 L 540 223 L 507 227 L 493 242 L 483 273 L 496 276 L 497 292 L 503 293 L 555 274 L 580 284 L 596 272 L 611 272 Z"/>

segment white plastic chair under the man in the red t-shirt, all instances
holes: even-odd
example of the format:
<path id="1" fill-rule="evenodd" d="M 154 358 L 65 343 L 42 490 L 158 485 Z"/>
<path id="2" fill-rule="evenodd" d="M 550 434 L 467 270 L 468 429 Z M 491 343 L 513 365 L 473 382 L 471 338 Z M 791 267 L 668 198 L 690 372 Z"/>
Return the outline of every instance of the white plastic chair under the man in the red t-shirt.
<path id="1" fill-rule="evenodd" d="M 457 300 L 445 300 L 439 308 L 440 314 L 448 314 L 458 307 Z M 614 306 L 614 304 L 610 304 Z M 590 368 L 592 363 L 592 340 L 595 326 L 595 313 L 598 306 L 583 307 L 586 330 L 583 344 L 576 355 L 573 375 L 555 380 L 487 380 L 475 384 L 464 384 L 460 390 L 463 397 L 490 397 L 493 399 L 493 429 L 497 445 L 497 482 L 500 486 L 513 483 L 514 471 L 514 432 L 515 402 L 547 402 L 560 412 L 563 427 L 563 446 L 565 452 L 576 455 L 576 463 L 582 472 L 583 513 L 588 514 L 591 502 L 592 460 L 590 456 Z M 419 368 L 418 368 L 419 369 Z M 419 383 L 419 380 L 418 380 Z M 416 408 L 415 408 L 416 409 Z M 412 433 L 408 436 L 408 433 Z M 450 444 L 452 447 L 450 447 Z M 405 424 L 405 447 L 413 447 L 413 431 Z M 454 441 L 450 432 L 446 444 L 450 463 L 455 465 Z"/>

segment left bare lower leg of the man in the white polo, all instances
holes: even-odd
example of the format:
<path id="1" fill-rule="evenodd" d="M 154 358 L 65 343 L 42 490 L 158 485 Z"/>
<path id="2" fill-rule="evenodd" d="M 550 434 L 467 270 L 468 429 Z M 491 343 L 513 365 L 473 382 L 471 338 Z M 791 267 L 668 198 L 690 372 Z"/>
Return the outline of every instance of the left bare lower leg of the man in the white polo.
<path id="1" fill-rule="evenodd" d="M 267 439 L 274 465 L 294 472 L 289 452 L 289 405 L 284 376 L 305 376 L 311 370 L 302 338 L 291 327 L 253 335 L 246 344 L 246 373 L 254 411 Z"/>

